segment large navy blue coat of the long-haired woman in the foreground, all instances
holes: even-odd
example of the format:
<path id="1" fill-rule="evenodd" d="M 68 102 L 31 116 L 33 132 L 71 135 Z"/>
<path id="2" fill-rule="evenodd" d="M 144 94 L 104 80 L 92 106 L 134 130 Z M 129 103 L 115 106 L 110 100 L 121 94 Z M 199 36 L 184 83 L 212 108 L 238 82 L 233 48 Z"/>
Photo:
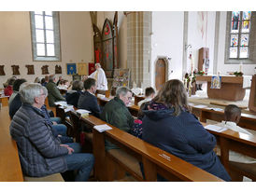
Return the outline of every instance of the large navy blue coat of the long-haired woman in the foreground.
<path id="1" fill-rule="evenodd" d="M 215 137 L 192 114 L 182 111 L 175 117 L 173 109 L 143 112 L 143 140 L 225 181 L 231 180 L 213 151 Z"/>

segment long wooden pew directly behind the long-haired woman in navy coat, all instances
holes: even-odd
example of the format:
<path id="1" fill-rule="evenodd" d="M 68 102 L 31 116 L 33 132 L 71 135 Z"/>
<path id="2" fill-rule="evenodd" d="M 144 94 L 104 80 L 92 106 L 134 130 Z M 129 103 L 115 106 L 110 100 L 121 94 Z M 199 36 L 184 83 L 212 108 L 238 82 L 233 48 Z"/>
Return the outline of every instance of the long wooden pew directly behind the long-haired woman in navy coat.
<path id="1" fill-rule="evenodd" d="M 75 113 L 75 112 L 71 112 Z M 92 127 L 107 124 L 97 117 L 89 115 L 81 120 Z M 107 124 L 112 130 L 105 132 L 93 131 L 93 155 L 95 158 L 95 176 L 99 181 L 112 181 L 115 178 L 114 164 L 135 176 L 138 181 L 156 181 L 157 173 L 170 181 L 220 182 L 220 178 L 203 171 L 192 164 L 177 158 L 164 150 L 155 147 L 135 136 Z M 105 139 L 118 144 L 129 156 L 143 162 L 146 179 L 136 171 L 127 167 L 120 159 L 106 152 Z M 113 161 L 115 163 L 113 163 Z M 122 174 L 123 175 L 123 174 Z"/>

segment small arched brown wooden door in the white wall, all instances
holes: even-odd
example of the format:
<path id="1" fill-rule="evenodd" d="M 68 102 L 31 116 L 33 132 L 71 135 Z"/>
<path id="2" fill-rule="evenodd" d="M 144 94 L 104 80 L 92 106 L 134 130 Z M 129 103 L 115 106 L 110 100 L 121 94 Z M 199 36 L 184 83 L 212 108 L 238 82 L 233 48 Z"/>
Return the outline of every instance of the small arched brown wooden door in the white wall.
<path id="1" fill-rule="evenodd" d="M 161 89 L 162 86 L 164 86 L 165 83 L 165 72 L 166 72 L 166 64 L 164 62 L 164 59 L 159 59 L 156 62 L 155 67 L 155 87 L 157 90 Z"/>

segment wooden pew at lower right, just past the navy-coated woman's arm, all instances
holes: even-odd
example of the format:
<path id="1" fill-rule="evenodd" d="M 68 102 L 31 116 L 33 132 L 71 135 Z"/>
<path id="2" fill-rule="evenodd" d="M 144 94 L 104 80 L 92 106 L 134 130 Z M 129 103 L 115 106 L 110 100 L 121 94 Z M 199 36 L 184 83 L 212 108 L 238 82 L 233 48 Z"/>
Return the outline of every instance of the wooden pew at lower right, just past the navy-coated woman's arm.
<path id="1" fill-rule="evenodd" d="M 206 123 L 202 124 L 206 126 Z M 253 171 L 249 169 L 249 164 L 243 165 L 245 169 L 241 169 L 242 167 L 239 168 L 237 163 L 229 161 L 230 150 L 251 158 L 256 158 L 256 137 L 233 130 L 225 130 L 222 132 L 208 131 L 216 137 L 217 144 L 220 145 L 220 160 L 225 169 L 229 171 L 231 175 L 232 171 L 235 171 L 240 175 L 251 178 L 252 181 L 256 181 L 256 175 L 252 174 Z"/>

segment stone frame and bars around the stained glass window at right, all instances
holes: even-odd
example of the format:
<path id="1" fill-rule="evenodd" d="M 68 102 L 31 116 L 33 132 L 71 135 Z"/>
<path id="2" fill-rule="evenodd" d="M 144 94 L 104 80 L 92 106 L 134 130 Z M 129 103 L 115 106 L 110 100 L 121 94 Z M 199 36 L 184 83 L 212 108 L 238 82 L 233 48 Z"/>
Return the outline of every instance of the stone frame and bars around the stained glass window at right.
<path id="1" fill-rule="evenodd" d="M 240 18 L 241 16 L 240 11 Z M 249 33 L 241 33 L 241 25 L 242 21 L 239 21 L 239 34 L 238 34 L 238 46 L 240 46 L 240 36 L 241 34 L 249 34 L 249 46 L 248 46 L 248 58 L 229 58 L 230 55 L 230 43 L 231 43 L 231 19 L 232 19 L 232 11 L 227 12 L 226 17 L 226 38 L 225 38 L 225 64 L 239 64 L 243 62 L 243 64 L 255 64 L 256 62 L 256 48 L 254 48 L 256 43 L 256 23 L 255 23 L 255 12 L 251 11 L 250 17 L 250 31 Z M 239 48 L 237 48 L 237 54 L 239 54 Z"/>

